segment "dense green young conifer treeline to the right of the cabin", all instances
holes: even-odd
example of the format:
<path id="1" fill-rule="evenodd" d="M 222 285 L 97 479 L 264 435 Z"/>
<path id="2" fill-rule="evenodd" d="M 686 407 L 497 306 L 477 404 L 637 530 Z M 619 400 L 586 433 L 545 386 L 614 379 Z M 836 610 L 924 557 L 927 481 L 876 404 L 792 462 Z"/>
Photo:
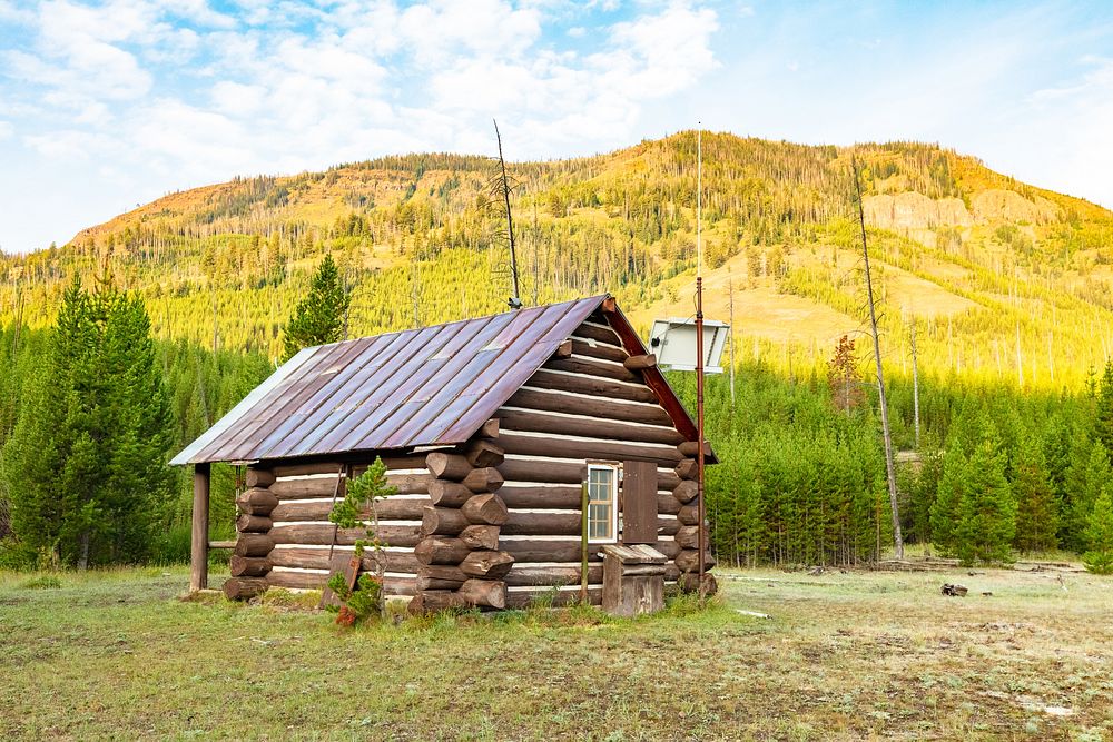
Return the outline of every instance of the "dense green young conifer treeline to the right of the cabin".
<path id="1" fill-rule="evenodd" d="M 690 375 L 671 380 L 692 403 Z M 847 413 L 827 379 L 792 382 L 760 364 L 739 368 L 736 383 L 733 410 L 726 376 L 708 385 L 709 437 L 721 461 L 708 474 L 718 557 L 853 564 L 884 554 L 876 395 Z M 1076 396 L 929 380 L 920 410 L 919 461 L 898 467 L 906 541 L 971 563 L 1113 548 L 1100 503 L 1113 494 L 1113 366 Z M 913 451 L 906 378 L 892 379 L 890 417 L 895 444 Z"/>

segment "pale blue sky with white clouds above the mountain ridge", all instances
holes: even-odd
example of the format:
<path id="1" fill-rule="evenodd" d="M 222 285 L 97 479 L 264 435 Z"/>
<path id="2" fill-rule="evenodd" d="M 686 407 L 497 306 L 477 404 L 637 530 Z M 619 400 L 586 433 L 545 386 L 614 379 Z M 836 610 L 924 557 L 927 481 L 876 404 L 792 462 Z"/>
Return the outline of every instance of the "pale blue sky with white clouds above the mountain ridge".
<path id="1" fill-rule="evenodd" d="M 237 175 L 919 140 L 1113 207 L 1113 3 L 0 0 L 0 249 Z"/>

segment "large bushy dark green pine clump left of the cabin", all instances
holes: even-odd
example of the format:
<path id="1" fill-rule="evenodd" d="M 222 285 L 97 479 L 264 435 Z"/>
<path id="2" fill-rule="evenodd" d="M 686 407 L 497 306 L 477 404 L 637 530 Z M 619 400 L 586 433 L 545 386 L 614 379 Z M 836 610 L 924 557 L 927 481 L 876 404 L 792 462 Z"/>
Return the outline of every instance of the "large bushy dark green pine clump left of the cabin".
<path id="1" fill-rule="evenodd" d="M 82 568 L 144 558 L 173 492 L 171 432 L 142 303 L 75 279 L 3 451 L 24 552 Z"/>

